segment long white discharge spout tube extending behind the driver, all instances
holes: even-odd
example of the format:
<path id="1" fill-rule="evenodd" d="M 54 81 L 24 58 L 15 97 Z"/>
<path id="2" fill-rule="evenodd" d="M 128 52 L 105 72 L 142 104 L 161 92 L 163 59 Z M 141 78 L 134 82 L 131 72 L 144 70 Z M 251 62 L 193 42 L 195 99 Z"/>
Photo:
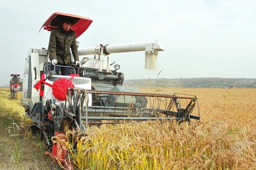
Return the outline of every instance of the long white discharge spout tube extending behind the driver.
<path id="1" fill-rule="evenodd" d="M 145 51 L 145 69 L 155 70 L 157 68 L 158 51 L 164 51 L 157 41 L 144 41 L 114 45 L 98 45 L 97 47 L 79 48 L 80 56 L 86 55 L 109 55 L 111 53 Z"/>

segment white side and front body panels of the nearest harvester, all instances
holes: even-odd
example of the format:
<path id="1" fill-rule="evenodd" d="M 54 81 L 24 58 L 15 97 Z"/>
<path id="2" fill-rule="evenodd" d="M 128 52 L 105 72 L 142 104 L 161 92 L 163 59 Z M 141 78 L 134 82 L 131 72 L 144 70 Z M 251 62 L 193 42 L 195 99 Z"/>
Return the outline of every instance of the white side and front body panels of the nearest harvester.
<path id="1" fill-rule="evenodd" d="M 40 96 L 40 90 L 36 90 L 35 84 L 41 80 L 41 71 L 44 69 L 43 67 L 48 63 L 48 51 L 45 49 L 30 49 L 27 53 L 27 57 L 24 65 L 24 78 L 23 78 L 23 91 L 22 91 L 22 105 L 29 109 L 30 111 L 33 109 L 34 104 L 43 102 L 45 105 L 47 99 L 56 99 L 53 96 L 52 87 L 44 86 L 44 94 Z M 45 68 L 47 69 L 47 68 Z M 72 76 L 63 76 L 63 75 L 52 75 L 49 76 L 45 82 L 49 84 L 53 84 L 54 81 L 50 81 L 50 79 L 57 80 L 59 78 L 71 79 Z M 82 78 L 75 76 L 72 80 L 75 84 L 76 88 L 81 89 L 91 89 L 91 79 L 90 78 Z M 40 98 L 41 97 L 41 98 Z M 65 101 L 58 101 L 56 99 L 56 103 L 64 103 Z M 91 94 L 88 96 L 88 105 L 91 106 L 92 99 Z"/>

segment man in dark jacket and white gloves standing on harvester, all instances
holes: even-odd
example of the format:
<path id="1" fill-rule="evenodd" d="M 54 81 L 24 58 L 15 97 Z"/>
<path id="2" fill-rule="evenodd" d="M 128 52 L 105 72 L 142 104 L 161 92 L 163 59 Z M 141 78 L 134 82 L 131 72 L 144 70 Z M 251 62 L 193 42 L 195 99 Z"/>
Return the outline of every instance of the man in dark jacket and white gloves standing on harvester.
<path id="1" fill-rule="evenodd" d="M 75 64 L 81 65 L 79 62 L 77 42 L 75 32 L 71 29 L 72 18 L 63 16 L 61 25 L 55 28 L 50 33 L 49 40 L 49 58 L 52 63 L 51 69 L 58 74 L 61 69 L 62 75 L 69 75 L 69 67 L 58 66 L 71 66 L 71 52 L 74 56 Z"/>

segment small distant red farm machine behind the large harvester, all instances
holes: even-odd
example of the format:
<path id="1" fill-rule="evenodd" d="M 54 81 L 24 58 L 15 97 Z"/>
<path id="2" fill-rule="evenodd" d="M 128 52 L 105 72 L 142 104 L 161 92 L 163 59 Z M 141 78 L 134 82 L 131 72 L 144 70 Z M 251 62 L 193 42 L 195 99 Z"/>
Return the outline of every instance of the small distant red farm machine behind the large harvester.
<path id="1" fill-rule="evenodd" d="M 12 79 L 10 79 L 10 91 L 11 98 L 14 98 L 17 91 L 22 91 L 23 81 L 19 78 L 19 74 L 11 74 Z"/>

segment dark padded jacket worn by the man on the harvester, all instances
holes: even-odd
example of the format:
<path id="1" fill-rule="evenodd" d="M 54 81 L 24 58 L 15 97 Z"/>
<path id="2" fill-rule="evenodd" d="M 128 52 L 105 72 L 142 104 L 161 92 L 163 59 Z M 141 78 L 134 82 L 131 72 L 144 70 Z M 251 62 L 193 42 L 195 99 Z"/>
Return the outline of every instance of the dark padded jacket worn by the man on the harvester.
<path id="1" fill-rule="evenodd" d="M 53 29 L 48 48 L 50 60 L 56 59 L 58 64 L 71 64 L 70 48 L 74 60 L 79 61 L 75 32 L 71 29 L 65 32 L 61 26 Z"/>

